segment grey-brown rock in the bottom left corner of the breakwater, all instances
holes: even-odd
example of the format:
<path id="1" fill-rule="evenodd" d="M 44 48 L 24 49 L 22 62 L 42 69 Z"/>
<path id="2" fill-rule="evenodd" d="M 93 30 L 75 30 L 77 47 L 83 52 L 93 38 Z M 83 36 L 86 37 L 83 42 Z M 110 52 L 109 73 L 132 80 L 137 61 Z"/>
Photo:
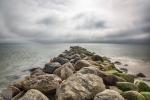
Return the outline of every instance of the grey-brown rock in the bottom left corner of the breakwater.
<path id="1" fill-rule="evenodd" d="M 4 97 L 4 99 L 11 99 L 15 95 L 17 95 L 20 92 L 20 90 L 14 86 L 8 86 L 6 89 L 1 91 L 1 95 Z"/>

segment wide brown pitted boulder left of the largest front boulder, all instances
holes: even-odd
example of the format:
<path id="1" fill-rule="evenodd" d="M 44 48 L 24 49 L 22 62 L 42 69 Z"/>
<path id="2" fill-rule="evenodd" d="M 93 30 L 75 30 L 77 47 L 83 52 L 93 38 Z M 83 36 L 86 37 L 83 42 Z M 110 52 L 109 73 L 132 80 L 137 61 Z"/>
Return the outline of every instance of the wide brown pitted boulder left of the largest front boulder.
<path id="1" fill-rule="evenodd" d="M 22 86 L 25 90 L 37 89 L 41 92 L 54 91 L 62 80 L 54 74 L 28 76 L 23 80 Z"/>

